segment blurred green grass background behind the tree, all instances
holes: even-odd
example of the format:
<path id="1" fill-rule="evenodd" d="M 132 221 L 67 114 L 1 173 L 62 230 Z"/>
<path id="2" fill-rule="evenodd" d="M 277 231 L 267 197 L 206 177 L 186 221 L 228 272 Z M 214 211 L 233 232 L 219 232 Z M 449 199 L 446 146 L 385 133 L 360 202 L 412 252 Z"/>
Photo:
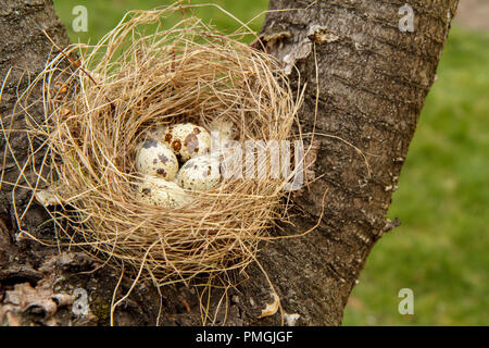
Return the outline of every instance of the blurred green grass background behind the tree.
<path id="1" fill-rule="evenodd" d="M 211 1 L 192 1 L 205 3 Z M 74 42 L 95 44 L 129 9 L 156 0 L 83 1 L 88 32 L 73 33 L 80 1 L 54 0 Z M 266 0 L 214 0 L 241 21 Z M 236 27 L 221 11 L 198 14 Z M 259 30 L 263 16 L 251 24 Z M 344 325 L 489 324 L 489 32 L 454 25 L 393 196 L 389 217 L 402 226 L 374 248 L 344 313 Z M 401 315 L 398 293 L 414 291 L 414 315 Z"/>

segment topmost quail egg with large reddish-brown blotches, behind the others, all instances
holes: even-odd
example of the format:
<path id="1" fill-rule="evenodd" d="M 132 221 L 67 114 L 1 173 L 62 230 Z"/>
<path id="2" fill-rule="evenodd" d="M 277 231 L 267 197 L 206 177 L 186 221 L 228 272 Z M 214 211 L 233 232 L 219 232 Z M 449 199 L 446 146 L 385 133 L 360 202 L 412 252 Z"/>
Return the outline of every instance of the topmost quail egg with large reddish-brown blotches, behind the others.
<path id="1" fill-rule="evenodd" d="M 163 136 L 177 157 L 186 162 L 192 157 L 209 153 L 211 135 L 201 126 L 191 123 L 170 126 Z"/>

